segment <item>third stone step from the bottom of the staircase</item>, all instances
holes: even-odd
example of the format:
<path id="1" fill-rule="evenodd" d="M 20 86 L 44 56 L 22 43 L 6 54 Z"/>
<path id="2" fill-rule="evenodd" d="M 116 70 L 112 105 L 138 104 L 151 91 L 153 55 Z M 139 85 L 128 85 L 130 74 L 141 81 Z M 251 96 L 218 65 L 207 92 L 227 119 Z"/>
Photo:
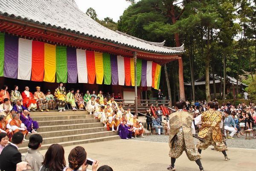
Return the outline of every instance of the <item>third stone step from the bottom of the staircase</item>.
<path id="1" fill-rule="evenodd" d="M 44 137 L 58 137 L 58 136 L 67 136 L 67 135 L 75 135 L 75 134 L 87 134 L 87 133 L 95 133 L 107 131 L 105 127 L 96 127 L 96 128 L 79 128 L 79 129 L 71 129 L 71 130 L 61 130 L 61 131 L 47 131 L 47 132 L 39 132 L 39 134 Z M 28 134 L 26 139 L 29 140 L 29 137 L 32 134 Z"/>

